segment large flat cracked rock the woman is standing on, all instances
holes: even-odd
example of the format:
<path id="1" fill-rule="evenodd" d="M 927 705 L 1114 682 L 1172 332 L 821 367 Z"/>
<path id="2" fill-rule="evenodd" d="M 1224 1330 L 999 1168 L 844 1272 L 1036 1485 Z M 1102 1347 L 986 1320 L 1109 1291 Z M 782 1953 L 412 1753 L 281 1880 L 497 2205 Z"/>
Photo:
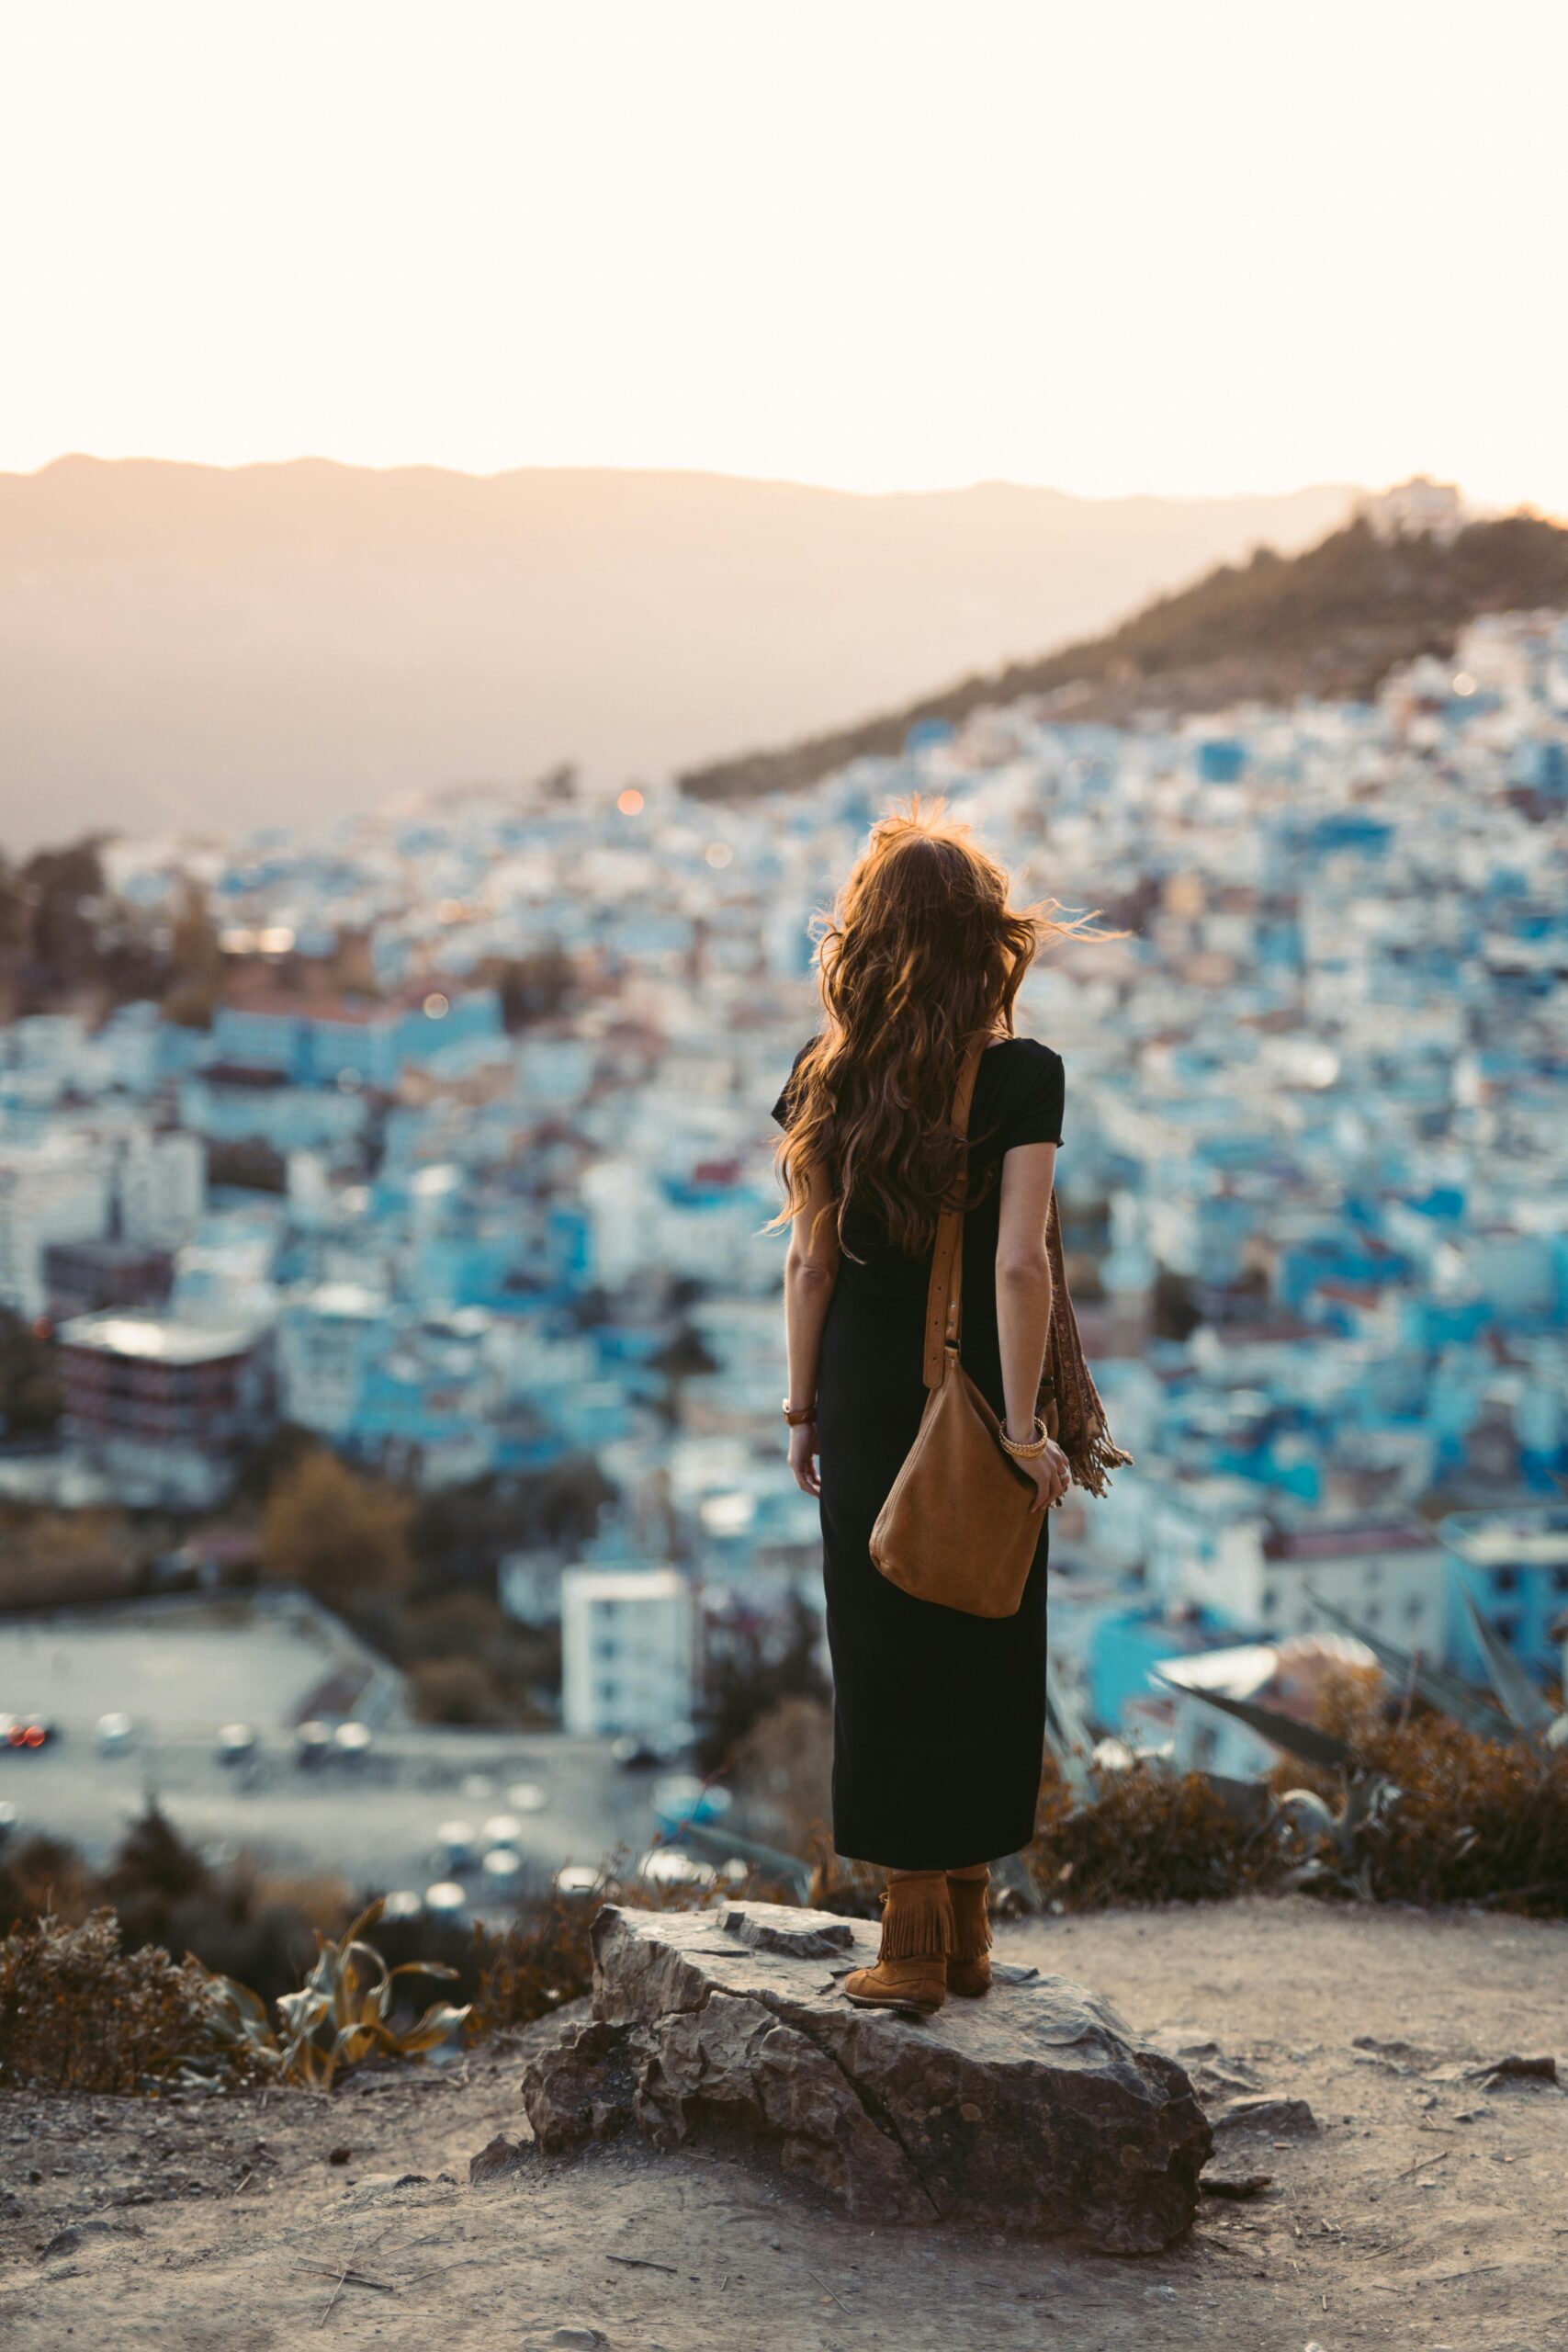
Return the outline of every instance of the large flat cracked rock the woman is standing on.
<path id="1" fill-rule="evenodd" d="M 1157 2253 L 1192 2223 L 1211 2152 L 1182 2067 L 1065 1976 L 1009 1971 L 931 2020 L 856 2009 L 875 1929 L 731 1903 L 604 1905 L 592 2020 L 524 2070 L 543 2150 L 637 2129 L 745 2136 L 870 2220 L 964 2220 Z"/>

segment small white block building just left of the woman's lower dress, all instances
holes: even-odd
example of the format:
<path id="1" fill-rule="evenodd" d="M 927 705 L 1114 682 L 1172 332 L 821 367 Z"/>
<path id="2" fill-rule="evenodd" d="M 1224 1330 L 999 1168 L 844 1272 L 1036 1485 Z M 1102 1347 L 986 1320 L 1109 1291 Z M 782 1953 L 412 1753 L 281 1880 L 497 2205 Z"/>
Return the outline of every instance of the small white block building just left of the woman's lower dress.
<path id="1" fill-rule="evenodd" d="M 693 1606 L 679 1569 L 562 1573 L 562 1724 L 576 1738 L 691 1722 Z"/>

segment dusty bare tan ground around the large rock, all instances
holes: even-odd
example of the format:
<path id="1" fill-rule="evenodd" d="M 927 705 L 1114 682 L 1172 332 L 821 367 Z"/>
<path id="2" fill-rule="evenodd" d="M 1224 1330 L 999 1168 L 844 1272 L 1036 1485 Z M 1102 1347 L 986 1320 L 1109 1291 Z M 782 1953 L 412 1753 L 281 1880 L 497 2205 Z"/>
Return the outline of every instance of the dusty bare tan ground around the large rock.
<path id="1" fill-rule="evenodd" d="M 1190 2244 L 1119 2263 L 867 2230 L 752 2164 L 637 2145 L 470 2187 L 491 2133 L 524 2129 L 515 2049 L 331 2100 L 12 2096 L 0 2343 L 529 2352 L 599 2328 L 614 2352 L 1568 2345 L 1568 2089 L 1465 2072 L 1554 2053 L 1568 2077 L 1568 1926 L 1291 1898 L 1063 1919 L 1004 1945 L 1185 2044 L 1211 2107 L 1229 2074 L 1307 2098 L 1321 2129 L 1225 2133 L 1222 2169 L 1272 2187 L 1206 2197 Z M 390 2291 L 339 2286 L 346 2263 Z"/>

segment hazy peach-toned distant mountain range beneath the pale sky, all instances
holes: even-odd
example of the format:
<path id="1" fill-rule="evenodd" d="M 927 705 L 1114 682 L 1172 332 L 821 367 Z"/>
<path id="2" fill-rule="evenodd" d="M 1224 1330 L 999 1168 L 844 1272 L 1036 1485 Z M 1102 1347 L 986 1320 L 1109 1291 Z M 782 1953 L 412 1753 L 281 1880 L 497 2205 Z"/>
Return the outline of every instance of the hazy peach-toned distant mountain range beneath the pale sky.
<path id="1" fill-rule="evenodd" d="M 1349 499 L 61 459 L 0 475 L 0 844 L 696 767 L 1307 546 Z"/>

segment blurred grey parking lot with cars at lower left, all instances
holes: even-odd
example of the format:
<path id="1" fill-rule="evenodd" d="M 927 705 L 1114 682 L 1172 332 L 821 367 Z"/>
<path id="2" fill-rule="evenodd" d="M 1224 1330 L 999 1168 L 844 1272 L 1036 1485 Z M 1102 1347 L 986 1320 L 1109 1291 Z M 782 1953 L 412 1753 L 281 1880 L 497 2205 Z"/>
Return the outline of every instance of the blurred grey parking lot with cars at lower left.
<path id="1" fill-rule="evenodd" d="M 244 1849 L 277 1870 L 327 1870 L 374 1891 L 423 1893 L 456 1877 L 473 1907 L 505 1907 L 562 1865 L 649 1846 L 651 1776 L 621 1771 L 609 1743 L 411 1724 L 386 1670 L 383 1682 L 364 1679 L 364 1712 L 353 1717 L 369 1717 L 369 1748 L 301 1764 L 301 1710 L 324 1684 L 364 1677 L 357 1644 L 327 1639 L 313 1616 L 247 1602 L 9 1621 L 0 1710 L 52 1729 L 35 1752 L 0 1750 L 0 1804 L 16 1809 L 16 1835 L 45 1830 L 101 1863 L 155 1797 L 214 1858 Z M 106 1752 L 99 1722 L 110 1715 L 129 1717 L 129 1736 Z M 240 1762 L 219 1757 L 230 1724 L 254 1731 Z M 487 1884 L 494 1816 L 510 1816 L 505 1842 L 522 1870 Z M 442 1846 L 451 1823 L 475 1832 L 468 1858 Z"/>

